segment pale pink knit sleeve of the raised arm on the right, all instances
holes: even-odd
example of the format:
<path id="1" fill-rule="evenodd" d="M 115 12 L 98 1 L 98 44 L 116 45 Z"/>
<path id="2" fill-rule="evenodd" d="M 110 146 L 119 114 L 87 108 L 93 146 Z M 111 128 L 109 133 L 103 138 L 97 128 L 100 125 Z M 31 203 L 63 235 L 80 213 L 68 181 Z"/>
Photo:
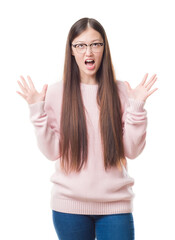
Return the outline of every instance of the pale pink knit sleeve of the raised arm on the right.
<path id="1" fill-rule="evenodd" d="M 124 151 L 129 159 L 136 158 L 146 144 L 147 111 L 144 104 L 144 101 L 128 98 L 122 116 Z"/>

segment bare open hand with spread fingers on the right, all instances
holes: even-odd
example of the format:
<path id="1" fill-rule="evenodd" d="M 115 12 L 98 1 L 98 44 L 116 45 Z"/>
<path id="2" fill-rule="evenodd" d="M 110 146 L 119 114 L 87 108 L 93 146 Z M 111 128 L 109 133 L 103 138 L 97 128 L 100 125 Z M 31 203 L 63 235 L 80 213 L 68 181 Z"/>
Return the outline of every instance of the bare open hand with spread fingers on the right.
<path id="1" fill-rule="evenodd" d="M 146 79 L 148 77 L 148 73 L 145 74 L 142 82 L 134 89 L 131 88 L 130 84 L 128 82 L 124 82 L 129 98 L 134 98 L 135 100 L 142 100 L 146 101 L 146 99 L 155 92 L 158 88 L 153 89 L 152 91 L 149 91 L 153 84 L 156 82 L 157 77 L 156 74 L 154 74 L 151 79 L 146 83 Z"/>

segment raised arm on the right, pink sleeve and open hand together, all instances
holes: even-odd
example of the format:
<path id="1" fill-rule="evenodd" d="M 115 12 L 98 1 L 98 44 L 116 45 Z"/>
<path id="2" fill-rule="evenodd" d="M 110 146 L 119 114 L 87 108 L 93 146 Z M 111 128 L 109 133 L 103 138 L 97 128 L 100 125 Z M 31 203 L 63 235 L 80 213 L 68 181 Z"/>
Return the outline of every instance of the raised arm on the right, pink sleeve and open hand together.
<path id="1" fill-rule="evenodd" d="M 148 74 L 145 74 L 142 82 L 132 89 L 128 82 L 127 100 L 123 114 L 123 143 L 126 157 L 136 158 L 144 149 L 146 143 L 147 112 L 144 109 L 146 99 L 157 90 L 149 91 L 156 82 L 156 74 L 146 82 Z"/>

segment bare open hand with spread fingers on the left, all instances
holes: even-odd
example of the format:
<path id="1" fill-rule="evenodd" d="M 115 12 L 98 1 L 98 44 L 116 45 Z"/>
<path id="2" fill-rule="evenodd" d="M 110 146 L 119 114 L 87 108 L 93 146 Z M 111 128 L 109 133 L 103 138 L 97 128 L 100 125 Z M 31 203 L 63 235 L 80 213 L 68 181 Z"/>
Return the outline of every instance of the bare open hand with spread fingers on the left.
<path id="1" fill-rule="evenodd" d="M 23 85 L 20 81 L 17 81 L 21 90 L 23 91 L 23 93 L 16 91 L 20 96 L 22 96 L 27 102 L 28 104 L 32 104 L 32 103 L 36 103 L 36 102 L 40 102 L 40 101 L 44 101 L 45 100 L 45 96 L 46 96 L 46 92 L 47 92 L 47 87 L 48 85 L 45 84 L 43 86 L 42 91 L 39 93 L 37 92 L 37 90 L 35 89 L 35 86 L 32 82 L 32 79 L 30 78 L 30 76 L 27 76 L 28 81 L 29 81 L 29 86 L 27 84 L 27 82 L 25 81 L 23 76 L 20 76 L 21 80 L 23 82 Z"/>

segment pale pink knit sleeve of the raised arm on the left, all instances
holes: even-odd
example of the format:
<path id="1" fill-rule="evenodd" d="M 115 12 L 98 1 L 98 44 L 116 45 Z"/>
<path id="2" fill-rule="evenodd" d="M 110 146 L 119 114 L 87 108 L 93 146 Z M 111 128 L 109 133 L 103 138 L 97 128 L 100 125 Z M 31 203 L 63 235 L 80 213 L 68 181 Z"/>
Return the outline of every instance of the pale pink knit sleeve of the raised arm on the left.
<path id="1" fill-rule="evenodd" d="M 57 120 L 51 104 L 52 87 L 48 87 L 45 101 L 29 104 L 30 120 L 34 126 L 37 145 L 49 159 L 59 158 L 59 131 Z"/>

